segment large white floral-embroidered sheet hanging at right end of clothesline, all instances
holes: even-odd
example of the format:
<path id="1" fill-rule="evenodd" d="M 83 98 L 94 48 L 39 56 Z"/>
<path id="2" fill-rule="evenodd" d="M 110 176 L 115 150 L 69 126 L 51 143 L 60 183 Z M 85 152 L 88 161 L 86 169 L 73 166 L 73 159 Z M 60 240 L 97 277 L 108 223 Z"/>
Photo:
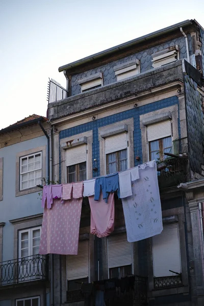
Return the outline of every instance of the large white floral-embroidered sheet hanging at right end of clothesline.
<path id="1" fill-rule="evenodd" d="M 139 167 L 139 177 L 132 183 L 133 195 L 122 199 L 129 242 L 161 234 L 163 230 L 156 162 Z"/>

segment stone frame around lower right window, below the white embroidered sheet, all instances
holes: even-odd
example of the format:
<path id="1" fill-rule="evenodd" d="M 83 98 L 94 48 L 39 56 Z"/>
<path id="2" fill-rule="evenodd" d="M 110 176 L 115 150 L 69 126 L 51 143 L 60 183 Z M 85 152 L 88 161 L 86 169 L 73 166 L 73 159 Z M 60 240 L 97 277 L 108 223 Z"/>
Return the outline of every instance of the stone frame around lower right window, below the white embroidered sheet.
<path id="1" fill-rule="evenodd" d="M 147 262 L 148 262 L 148 288 L 149 288 L 150 298 L 159 297 L 163 295 L 182 294 L 182 293 L 189 292 L 184 207 L 165 210 L 162 212 L 162 217 L 163 217 L 164 224 L 177 223 L 179 225 L 182 286 L 174 287 L 174 288 L 172 287 L 166 287 L 166 288 L 164 287 L 160 289 L 154 288 L 152 239 L 148 238 L 147 239 Z"/>

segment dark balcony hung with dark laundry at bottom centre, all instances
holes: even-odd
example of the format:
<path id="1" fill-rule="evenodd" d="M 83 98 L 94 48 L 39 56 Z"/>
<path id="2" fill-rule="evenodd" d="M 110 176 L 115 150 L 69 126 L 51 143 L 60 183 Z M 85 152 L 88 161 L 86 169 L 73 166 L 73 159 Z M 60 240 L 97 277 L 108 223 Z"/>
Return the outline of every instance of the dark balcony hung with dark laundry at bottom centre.
<path id="1" fill-rule="evenodd" d="M 147 305 L 147 278 L 134 275 L 130 277 L 133 279 L 132 286 L 129 288 L 125 287 L 128 284 L 129 277 L 121 279 L 107 279 L 105 281 L 94 282 L 92 284 L 86 284 L 87 289 L 82 288 L 82 284 L 79 285 L 78 289 L 67 291 L 67 302 L 79 302 L 86 301 L 88 304 L 91 304 L 91 301 L 95 301 L 95 294 L 97 286 L 101 285 L 104 289 L 104 299 L 106 305 L 109 306 L 143 306 Z M 110 285 L 113 286 L 110 286 Z M 91 288 L 92 286 L 92 288 Z M 86 287 L 86 286 L 85 286 Z M 91 288 L 91 290 L 90 290 Z M 84 294 L 82 293 L 84 292 Z"/>

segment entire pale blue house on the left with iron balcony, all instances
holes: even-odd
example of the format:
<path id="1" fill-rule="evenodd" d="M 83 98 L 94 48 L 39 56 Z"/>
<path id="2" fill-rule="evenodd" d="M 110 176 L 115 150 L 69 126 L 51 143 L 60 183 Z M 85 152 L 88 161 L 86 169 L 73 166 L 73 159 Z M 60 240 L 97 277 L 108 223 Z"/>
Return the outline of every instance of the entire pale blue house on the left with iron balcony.
<path id="1" fill-rule="evenodd" d="M 49 305 L 48 258 L 39 256 L 49 124 L 32 115 L 0 131 L 0 305 Z M 44 134 L 45 133 L 45 134 Z"/>

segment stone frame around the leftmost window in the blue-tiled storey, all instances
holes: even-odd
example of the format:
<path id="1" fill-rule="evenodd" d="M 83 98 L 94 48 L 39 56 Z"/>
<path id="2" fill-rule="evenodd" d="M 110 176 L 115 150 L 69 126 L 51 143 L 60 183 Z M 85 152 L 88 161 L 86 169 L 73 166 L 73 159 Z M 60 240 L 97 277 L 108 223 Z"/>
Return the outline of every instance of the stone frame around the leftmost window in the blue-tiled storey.
<path id="1" fill-rule="evenodd" d="M 86 141 L 85 141 L 86 140 Z M 78 146 L 87 143 L 87 180 L 92 179 L 92 143 L 93 131 L 72 135 L 60 140 L 60 156 L 61 156 L 61 184 L 66 183 L 66 159 L 65 151 L 72 146 Z"/>

